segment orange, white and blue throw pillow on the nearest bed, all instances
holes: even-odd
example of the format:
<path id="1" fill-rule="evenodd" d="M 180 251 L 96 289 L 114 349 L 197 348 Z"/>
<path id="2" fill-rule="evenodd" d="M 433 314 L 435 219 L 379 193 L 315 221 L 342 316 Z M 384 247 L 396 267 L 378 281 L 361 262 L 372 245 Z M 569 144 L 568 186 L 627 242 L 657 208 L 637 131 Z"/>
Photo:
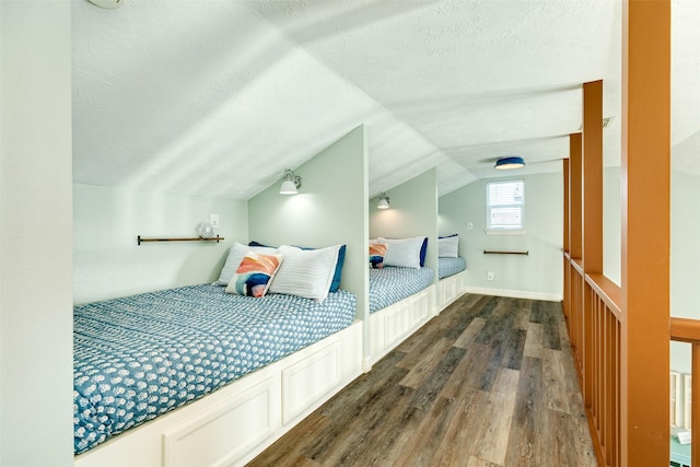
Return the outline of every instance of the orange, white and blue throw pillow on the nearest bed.
<path id="1" fill-rule="evenodd" d="M 247 296 L 265 296 L 282 264 L 284 255 L 259 255 L 248 252 L 226 287 L 226 292 Z"/>

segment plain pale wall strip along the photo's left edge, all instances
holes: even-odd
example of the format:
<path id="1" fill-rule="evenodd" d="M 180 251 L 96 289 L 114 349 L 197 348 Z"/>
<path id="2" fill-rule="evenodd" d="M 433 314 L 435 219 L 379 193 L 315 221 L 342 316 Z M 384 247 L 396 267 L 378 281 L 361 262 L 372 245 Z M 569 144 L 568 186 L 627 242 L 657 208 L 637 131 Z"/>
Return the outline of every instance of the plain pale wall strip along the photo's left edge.
<path id="1" fill-rule="evenodd" d="M 0 465 L 72 466 L 71 2 L 0 2 Z"/>

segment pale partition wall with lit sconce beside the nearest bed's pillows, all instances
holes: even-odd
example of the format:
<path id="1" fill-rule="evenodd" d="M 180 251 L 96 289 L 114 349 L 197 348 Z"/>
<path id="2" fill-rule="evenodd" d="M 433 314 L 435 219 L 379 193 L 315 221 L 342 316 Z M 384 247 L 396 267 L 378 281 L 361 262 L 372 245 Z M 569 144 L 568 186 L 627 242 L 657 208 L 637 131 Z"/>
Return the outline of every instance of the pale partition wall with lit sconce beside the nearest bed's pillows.
<path id="1" fill-rule="evenodd" d="M 357 295 L 361 319 L 368 288 L 366 167 L 366 136 L 360 126 L 294 168 L 302 177 L 298 195 L 280 195 L 280 179 L 248 201 L 252 241 L 276 246 L 347 245 L 340 287 Z"/>

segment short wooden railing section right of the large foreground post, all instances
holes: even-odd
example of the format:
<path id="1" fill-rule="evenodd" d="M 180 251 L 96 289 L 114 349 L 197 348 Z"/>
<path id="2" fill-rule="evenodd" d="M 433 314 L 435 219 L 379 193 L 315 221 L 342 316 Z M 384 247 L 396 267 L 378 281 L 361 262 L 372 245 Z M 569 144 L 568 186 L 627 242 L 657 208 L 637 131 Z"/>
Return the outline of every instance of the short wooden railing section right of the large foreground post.
<path id="1" fill-rule="evenodd" d="M 692 346 L 692 387 L 691 393 L 691 427 L 700 427 L 700 319 L 670 318 L 670 340 L 688 342 Z M 693 466 L 699 465 L 700 459 L 700 430 L 690 430 L 690 460 Z"/>

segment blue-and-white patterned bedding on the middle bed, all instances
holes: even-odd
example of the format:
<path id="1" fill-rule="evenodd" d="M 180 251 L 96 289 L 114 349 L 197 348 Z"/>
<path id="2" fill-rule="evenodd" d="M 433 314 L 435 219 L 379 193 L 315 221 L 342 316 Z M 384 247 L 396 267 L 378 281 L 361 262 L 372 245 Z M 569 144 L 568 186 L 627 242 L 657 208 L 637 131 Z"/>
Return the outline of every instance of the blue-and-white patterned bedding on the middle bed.
<path id="1" fill-rule="evenodd" d="M 433 275 L 431 268 L 370 269 L 370 313 L 427 289 L 433 282 Z"/>

